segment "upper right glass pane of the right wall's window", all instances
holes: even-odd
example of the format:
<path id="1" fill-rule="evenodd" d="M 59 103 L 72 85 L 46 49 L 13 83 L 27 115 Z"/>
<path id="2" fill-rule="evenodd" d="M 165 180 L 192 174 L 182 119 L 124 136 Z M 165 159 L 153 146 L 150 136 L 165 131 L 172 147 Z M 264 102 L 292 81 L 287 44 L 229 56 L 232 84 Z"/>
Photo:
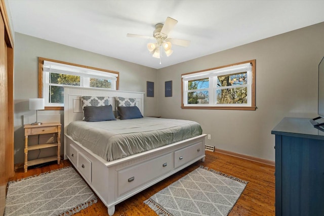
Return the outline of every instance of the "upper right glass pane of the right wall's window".
<path id="1" fill-rule="evenodd" d="M 227 87 L 230 85 L 245 85 L 248 83 L 248 73 L 232 73 L 217 76 L 217 87 Z"/>

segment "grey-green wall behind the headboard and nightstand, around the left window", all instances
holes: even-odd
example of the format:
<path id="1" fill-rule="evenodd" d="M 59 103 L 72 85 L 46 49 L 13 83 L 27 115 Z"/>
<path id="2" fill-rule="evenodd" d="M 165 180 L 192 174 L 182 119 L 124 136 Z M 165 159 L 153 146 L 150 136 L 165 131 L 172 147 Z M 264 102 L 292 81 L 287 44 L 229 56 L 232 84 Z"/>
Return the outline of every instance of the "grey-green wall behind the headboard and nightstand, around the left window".
<path id="1" fill-rule="evenodd" d="M 23 124 L 36 120 L 32 119 L 32 117 L 35 118 L 35 111 L 29 111 L 28 99 L 37 98 L 38 96 L 38 57 L 118 71 L 119 90 L 146 92 L 146 81 L 157 83 L 156 69 L 17 32 L 15 33 L 14 55 L 15 163 L 24 161 Z M 154 89 L 154 98 L 145 97 L 144 115 L 158 114 L 156 84 Z M 63 111 L 42 111 L 42 114 L 46 113 L 61 114 L 61 119 L 63 119 Z M 25 119 L 30 119 L 30 122 L 24 122 L 24 116 Z M 26 118 L 26 116 L 31 116 L 31 118 Z"/>

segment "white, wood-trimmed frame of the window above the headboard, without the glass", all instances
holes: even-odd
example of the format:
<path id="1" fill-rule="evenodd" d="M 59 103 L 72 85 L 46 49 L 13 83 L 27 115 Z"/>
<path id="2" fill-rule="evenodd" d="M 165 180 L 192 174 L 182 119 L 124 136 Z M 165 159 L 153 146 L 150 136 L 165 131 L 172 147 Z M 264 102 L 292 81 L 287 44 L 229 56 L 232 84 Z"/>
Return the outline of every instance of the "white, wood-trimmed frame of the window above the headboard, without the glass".
<path id="1" fill-rule="evenodd" d="M 115 71 L 100 70 L 83 65 L 74 65 L 71 63 L 59 62 L 55 60 L 39 58 L 38 74 L 41 74 L 42 89 L 38 88 L 38 97 L 45 99 L 45 107 L 63 107 L 64 103 L 50 103 L 49 102 L 49 89 L 51 85 L 55 86 L 68 86 L 63 84 L 50 83 L 50 73 L 68 74 L 80 76 L 80 87 L 90 87 L 90 78 L 108 79 L 111 80 L 111 89 L 118 89 L 118 76 L 119 73 Z M 38 80 L 38 85 L 40 80 Z M 98 89 L 98 88 L 93 88 Z M 39 92 L 42 91 L 42 94 Z"/>

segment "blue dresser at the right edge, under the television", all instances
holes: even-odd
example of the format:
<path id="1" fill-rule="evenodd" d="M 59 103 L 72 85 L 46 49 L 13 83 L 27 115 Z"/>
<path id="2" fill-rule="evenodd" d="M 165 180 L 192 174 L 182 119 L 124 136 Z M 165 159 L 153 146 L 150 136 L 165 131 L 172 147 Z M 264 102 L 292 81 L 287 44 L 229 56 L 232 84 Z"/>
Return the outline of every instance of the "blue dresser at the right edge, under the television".
<path id="1" fill-rule="evenodd" d="M 284 118 L 275 135 L 275 215 L 324 215 L 324 132 Z"/>

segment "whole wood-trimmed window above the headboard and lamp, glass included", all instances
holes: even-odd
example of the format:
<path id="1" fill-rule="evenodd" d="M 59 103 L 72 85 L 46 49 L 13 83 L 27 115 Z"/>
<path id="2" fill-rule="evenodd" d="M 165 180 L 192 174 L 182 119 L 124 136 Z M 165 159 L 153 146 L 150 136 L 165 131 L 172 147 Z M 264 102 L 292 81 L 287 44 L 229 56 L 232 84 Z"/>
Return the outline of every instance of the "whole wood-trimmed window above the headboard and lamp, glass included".
<path id="1" fill-rule="evenodd" d="M 39 58 L 38 97 L 45 99 L 46 107 L 64 106 L 64 86 L 116 90 L 118 72 Z M 41 88 L 42 87 L 42 88 Z"/>

